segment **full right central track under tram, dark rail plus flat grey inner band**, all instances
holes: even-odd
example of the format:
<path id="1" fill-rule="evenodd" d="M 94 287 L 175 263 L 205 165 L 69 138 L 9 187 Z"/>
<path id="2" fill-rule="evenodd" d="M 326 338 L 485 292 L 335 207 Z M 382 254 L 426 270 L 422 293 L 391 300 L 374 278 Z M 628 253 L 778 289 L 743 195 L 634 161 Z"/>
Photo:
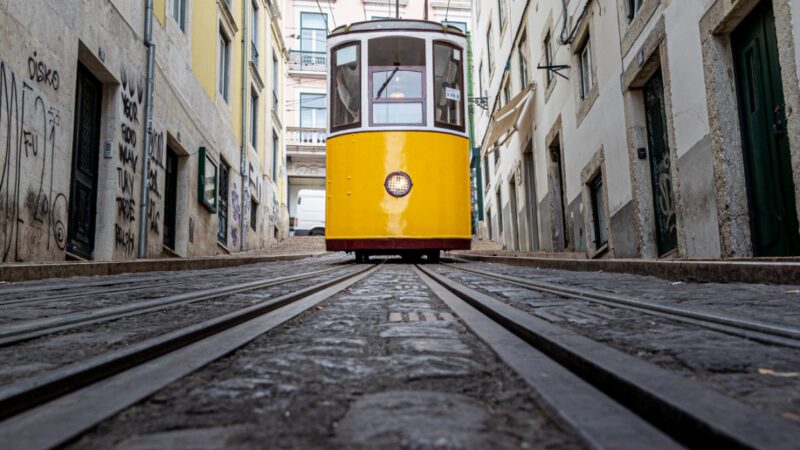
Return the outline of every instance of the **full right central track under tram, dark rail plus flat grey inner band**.
<path id="1" fill-rule="evenodd" d="M 800 427 L 795 424 L 538 319 L 429 267 L 417 266 L 417 270 L 429 287 L 538 391 L 548 409 L 590 447 L 660 447 L 666 444 L 662 440 L 666 435 L 690 448 L 796 448 Z M 493 324 L 488 325 L 486 319 Z M 514 339 L 546 355 L 560 368 L 529 354 Z M 576 377 L 602 393 L 605 400 L 598 399 L 597 393 L 581 385 Z M 654 429 L 643 426 L 635 417 L 626 417 L 606 404 L 608 401 Z M 617 430 L 626 422 L 640 427 L 640 432 L 630 436 Z M 598 423 L 603 426 L 597 427 Z M 615 423 L 617 426 L 611 426 Z"/>

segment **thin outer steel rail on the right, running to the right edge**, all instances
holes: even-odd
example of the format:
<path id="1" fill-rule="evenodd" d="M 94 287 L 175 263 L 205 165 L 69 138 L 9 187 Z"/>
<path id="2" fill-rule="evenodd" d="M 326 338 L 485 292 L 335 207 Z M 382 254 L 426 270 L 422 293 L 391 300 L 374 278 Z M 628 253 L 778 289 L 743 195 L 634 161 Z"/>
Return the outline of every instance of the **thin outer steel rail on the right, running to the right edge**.
<path id="1" fill-rule="evenodd" d="M 500 281 L 507 281 L 527 289 L 554 294 L 559 297 L 578 298 L 593 303 L 600 303 L 606 306 L 623 307 L 650 315 L 666 317 L 679 322 L 691 323 L 711 330 L 720 331 L 767 344 L 777 344 L 786 347 L 800 348 L 800 328 L 789 325 L 771 324 L 757 320 L 741 319 L 710 312 L 662 305 L 645 299 L 608 294 L 583 288 L 564 287 L 544 281 L 530 281 L 519 277 L 459 267 L 452 264 L 442 265 L 450 269 L 474 273 L 476 275 L 481 275 Z"/>

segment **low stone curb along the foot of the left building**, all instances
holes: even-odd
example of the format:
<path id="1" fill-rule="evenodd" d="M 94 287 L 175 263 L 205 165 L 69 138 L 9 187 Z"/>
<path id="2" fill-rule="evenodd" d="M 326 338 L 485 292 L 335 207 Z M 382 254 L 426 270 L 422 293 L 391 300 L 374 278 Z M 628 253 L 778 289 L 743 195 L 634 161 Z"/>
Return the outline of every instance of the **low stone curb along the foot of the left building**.
<path id="1" fill-rule="evenodd" d="M 294 261 L 322 254 L 324 254 L 324 252 L 262 256 L 140 259 L 107 262 L 11 263 L 0 264 L 0 281 L 16 283 L 20 281 L 42 280 L 45 278 L 118 275 L 122 273 L 171 270 L 219 269 L 263 262 Z"/>

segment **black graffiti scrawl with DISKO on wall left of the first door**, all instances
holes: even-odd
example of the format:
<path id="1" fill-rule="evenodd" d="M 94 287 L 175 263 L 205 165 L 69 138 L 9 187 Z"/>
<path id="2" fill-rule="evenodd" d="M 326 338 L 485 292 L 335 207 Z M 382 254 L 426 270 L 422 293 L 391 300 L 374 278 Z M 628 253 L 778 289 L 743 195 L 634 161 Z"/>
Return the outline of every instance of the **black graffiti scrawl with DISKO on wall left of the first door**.
<path id="1" fill-rule="evenodd" d="M 60 112 L 29 83 L 46 83 L 58 90 L 60 79 L 57 71 L 36 61 L 35 52 L 28 59 L 28 69 L 26 80 L 0 60 L 0 250 L 4 262 L 24 261 L 38 248 L 63 251 L 67 240 L 67 196 L 53 179 Z"/>

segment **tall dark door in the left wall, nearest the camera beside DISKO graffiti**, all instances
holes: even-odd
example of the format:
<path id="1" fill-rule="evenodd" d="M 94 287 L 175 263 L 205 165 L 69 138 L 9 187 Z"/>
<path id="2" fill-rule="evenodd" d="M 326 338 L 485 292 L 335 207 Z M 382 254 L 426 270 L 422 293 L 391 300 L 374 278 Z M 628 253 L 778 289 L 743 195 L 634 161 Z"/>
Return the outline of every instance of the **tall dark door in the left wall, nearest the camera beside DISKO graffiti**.
<path id="1" fill-rule="evenodd" d="M 89 259 L 94 253 L 102 99 L 103 84 L 82 64 L 78 64 L 67 250 Z"/>

